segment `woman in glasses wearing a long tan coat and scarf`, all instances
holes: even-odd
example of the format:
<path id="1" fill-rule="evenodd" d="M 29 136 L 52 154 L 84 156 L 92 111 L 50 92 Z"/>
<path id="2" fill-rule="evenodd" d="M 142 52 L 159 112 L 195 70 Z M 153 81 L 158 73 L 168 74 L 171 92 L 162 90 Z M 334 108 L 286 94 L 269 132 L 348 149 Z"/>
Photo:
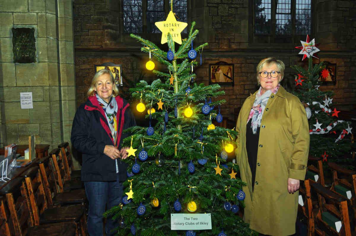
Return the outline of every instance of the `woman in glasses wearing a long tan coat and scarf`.
<path id="1" fill-rule="evenodd" d="M 244 220 L 264 235 L 295 233 L 299 181 L 309 152 L 305 109 L 279 83 L 284 68 L 272 57 L 260 61 L 260 89 L 246 99 L 236 123 L 236 160 L 247 183 Z"/>

